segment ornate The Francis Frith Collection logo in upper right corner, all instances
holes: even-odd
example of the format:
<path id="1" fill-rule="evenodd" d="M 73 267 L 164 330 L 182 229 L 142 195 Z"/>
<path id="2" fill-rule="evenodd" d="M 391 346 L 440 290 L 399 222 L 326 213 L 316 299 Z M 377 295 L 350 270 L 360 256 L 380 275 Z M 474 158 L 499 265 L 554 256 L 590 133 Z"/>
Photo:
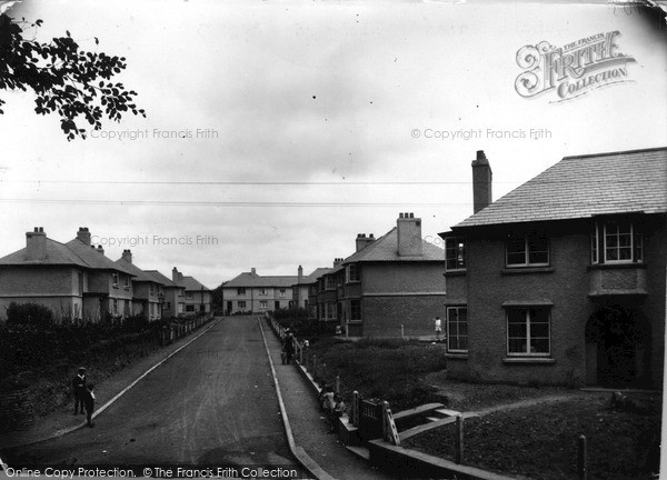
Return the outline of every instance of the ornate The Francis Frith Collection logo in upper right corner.
<path id="1" fill-rule="evenodd" d="M 630 81 L 627 64 L 635 58 L 621 53 L 616 44 L 619 31 L 597 33 L 565 47 L 547 41 L 528 44 L 517 52 L 517 64 L 524 69 L 516 81 L 517 93 L 534 98 L 552 92 L 561 102 L 593 90 Z"/>

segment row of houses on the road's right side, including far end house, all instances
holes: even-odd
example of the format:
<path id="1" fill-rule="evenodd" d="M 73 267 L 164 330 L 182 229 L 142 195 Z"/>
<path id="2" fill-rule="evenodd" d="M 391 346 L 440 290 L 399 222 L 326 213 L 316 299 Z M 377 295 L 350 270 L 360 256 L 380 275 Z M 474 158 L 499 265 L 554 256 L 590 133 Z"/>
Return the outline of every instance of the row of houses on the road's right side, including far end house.
<path id="1" fill-rule="evenodd" d="M 484 151 L 471 168 L 474 214 L 445 249 L 400 213 L 329 268 L 242 273 L 226 310 L 298 306 L 354 337 L 432 336 L 440 316 L 451 377 L 661 384 L 667 148 L 566 157 L 496 202 Z"/>

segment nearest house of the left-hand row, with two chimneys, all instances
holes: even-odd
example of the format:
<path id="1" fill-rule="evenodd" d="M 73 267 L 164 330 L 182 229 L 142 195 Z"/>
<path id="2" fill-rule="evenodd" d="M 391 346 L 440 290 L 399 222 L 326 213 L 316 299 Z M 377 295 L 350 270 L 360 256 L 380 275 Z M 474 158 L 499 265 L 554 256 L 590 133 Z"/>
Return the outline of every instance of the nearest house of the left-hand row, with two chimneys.
<path id="1" fill-rule="evenodd" d="M 39 303 L 57 321 L 107 316 L 127 317 L 132 309 L 133 273 L 90 244 L 90 231 L 60 243 L 43 228 L 26 233 L 26 248 L 0 259 L 0 318 L 11 302 Z"/>

